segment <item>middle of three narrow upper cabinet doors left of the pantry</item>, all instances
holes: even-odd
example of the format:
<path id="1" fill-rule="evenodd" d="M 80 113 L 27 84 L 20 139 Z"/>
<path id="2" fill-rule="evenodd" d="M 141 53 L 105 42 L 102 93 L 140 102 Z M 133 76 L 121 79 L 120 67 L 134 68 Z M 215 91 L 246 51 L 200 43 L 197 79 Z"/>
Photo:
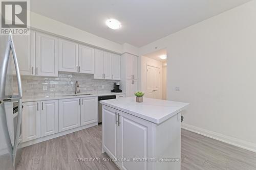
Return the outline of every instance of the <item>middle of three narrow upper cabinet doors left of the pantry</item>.
<path id="1" fill-rule="evenodd" d="M 112 80 L 112 54 L 104 52 L 104 79 Z"/>

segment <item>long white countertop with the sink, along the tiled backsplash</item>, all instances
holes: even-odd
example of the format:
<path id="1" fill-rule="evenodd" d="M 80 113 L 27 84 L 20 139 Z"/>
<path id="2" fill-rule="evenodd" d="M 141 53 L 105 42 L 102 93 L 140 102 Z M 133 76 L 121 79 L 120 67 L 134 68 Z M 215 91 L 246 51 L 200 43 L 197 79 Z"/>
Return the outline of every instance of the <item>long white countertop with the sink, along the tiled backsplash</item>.
<path id="1" fill-rule="evenodd" d="M 113 94 L 125 94 L 125 92 L 110 92 L 103 94 L 90 94 L 90 95 L 82 95 L 83 93 L 79 93 L 79 95 L 72 94 L 58 94 L 58 95 L 35 95 L 35 96 L 23 96 L 22 102 L 36 102 L 36 101 L 47 101 L 47 100 L 58 100 L 58 99 L 72 99 L 72 98 L 86 98 L 92 96 L 100 96 L 100 95 L 113 95 Z M 86 93 L 84 93 L 86 94 Z M 69 95 L 69 96 L 67 96 Z"/>

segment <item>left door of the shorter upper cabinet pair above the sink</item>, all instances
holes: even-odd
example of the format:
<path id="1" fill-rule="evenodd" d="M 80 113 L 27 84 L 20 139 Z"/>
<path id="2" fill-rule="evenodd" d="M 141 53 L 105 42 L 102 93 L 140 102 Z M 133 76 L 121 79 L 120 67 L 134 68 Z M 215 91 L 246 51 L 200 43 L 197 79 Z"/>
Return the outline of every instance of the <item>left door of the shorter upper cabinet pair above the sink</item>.
<path id="1" fill-rule="evenodd" d="M 58 39 L 58 70 L 78 72 L 78 43 Z"/>

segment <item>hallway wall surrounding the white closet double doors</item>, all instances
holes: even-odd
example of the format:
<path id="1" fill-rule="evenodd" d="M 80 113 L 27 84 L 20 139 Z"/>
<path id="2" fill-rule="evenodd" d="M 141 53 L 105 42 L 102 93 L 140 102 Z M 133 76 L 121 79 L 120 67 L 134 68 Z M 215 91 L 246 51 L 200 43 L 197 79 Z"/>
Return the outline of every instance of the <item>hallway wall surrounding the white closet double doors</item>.
<path id="1" fill-rule="evenodd" d="M 157 60 L 153 60 L 151 58 L 148 58 L 148 57 L 145 57 L 145 56 L 141 56 L 139 58 L 139 60 L 141 60 L 139 62 L 140 66 L 139 66 L 139 72 L 141 73 L 140 74 L 140 83 L 139 83 L 139 89 L 142 91 L 142 92 L 146 92 L 146 66 L 147 65 L 150 65 L 150 66 L 153 66 L 153 67 L 157 67 L 160 69 L 160 90 L 159 90 L 159 93 L 160 93 L 160 96 L 159 98 L 161 99 L 162 98 L 162 63 L 160 61 L 157 61 Z"/>

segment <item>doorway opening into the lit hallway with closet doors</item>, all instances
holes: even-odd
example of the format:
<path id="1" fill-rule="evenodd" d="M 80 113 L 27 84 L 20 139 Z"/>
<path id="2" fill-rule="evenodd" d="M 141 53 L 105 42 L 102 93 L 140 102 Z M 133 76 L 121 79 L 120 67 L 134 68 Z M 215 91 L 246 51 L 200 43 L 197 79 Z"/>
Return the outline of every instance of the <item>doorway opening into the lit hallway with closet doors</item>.
<path id="1" fill-rule="evenodd" d="M 146 98 L 166 100 L 166 49 L 141 56 L 141 90 Z"/>

